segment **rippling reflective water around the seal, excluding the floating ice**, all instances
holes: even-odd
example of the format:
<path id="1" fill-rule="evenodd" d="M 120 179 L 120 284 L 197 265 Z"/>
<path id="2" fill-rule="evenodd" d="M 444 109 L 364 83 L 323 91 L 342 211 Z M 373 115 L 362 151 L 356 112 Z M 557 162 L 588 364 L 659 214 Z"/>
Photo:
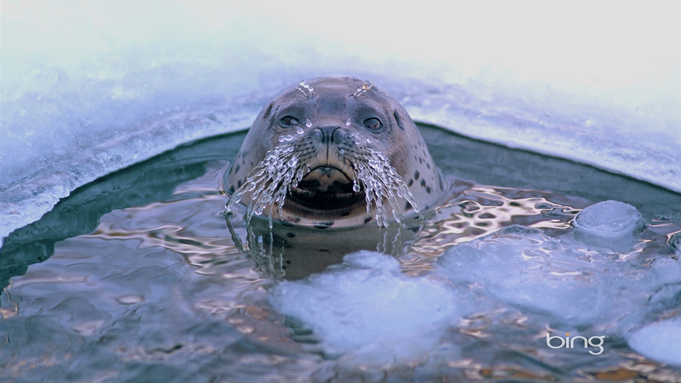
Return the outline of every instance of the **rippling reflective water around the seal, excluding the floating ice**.
<path id="1" fill-rule="evenodd" d="M 419 277 L 457 244 L 512 224 L 560 234 L 581 209 L 610 198 L 634 204 L 648 221 L 629 254 L 641 260 L 636 267 L 672 254 L 667 238 L 680 230 L 678 194 L 439 129 L 422 132 L 451 192 L 428 221 L 389 228 L 270 231 L 264 219 L 249 227 L 226 220 L 217 185 L 243 135 L 198 142 L 87 185 L 0 250 L 0 380 L 680 378 L 678 368 L 635 354 L 622 337 L 611 337 L 599 358 L 542 348 L 552 323 L 499 302 L 444 331 L 430 358 L 378 369 L 325 354 L 308 328 L 273 309 L 269 291 L 281 280 L 318 273 L 357 249 L 390 254 L 402 273 Z M 476 288 L 470 292 L 482 300 Z"/>

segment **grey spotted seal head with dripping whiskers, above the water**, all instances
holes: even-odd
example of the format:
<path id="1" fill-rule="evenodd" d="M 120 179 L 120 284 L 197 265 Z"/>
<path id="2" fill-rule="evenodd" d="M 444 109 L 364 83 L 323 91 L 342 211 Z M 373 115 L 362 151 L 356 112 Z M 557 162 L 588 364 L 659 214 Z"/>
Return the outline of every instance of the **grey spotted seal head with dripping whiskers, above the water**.
<path id="1" fill-rule="evenodd" d="M 223 176 L 227 210 L 247 218 L 345 228 L 428 209 L 442 177 L 409 114 L 373 84 L 351 77 L 301 81 L 258 114 Z"/>

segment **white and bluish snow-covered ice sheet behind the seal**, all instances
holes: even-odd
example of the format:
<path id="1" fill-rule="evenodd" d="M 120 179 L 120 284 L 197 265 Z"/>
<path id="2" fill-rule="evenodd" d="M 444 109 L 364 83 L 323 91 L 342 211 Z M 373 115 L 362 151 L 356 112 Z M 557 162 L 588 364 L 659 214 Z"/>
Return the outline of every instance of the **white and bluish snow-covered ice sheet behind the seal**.
<path id="1" fill-rule="evenodd" d="M 328 74 L 417 121 L 681 191 L 680 6 L 3 1 L 0 238 Z"/>

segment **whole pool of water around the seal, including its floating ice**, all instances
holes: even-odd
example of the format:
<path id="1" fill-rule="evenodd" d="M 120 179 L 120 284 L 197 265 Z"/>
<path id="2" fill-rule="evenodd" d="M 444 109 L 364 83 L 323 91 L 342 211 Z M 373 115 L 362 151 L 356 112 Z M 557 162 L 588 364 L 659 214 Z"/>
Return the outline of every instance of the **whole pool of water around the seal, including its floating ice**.
<path id="1" fill-rule="evenodd" d="M 81 187 L 0 249 L 0 377 L 681 379 L 676 343 L 663 343 L 678 334 L 680 194 L 420 128 L 451 190 L 426 224 L 270 234 L 253 217 L 230 231 L 217 185 L 244 134 Z M 585 209 L 605 200 L 646 225 L 595 205 L 633 222 L 612 230 Z M 550 348 L 547 332 L 606 336 L 603 353 Z"/>

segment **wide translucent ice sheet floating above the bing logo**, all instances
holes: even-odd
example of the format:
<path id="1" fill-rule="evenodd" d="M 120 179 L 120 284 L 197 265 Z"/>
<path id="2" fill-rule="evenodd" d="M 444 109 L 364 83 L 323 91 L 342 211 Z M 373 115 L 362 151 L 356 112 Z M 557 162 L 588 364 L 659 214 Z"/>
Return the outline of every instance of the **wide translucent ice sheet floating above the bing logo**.
<path id="1" fill-rule="evenodd" d="M 565 326 L 616 322 L 631 307 L 645 305 L 646 292 L 674 277 L 671 269 L 663 277 L 647 275 L 605 246 L 518 225 L 456 245 L 439 262 L 453 281 L 481 286 L 496 301 L 545 313 Z"/>

